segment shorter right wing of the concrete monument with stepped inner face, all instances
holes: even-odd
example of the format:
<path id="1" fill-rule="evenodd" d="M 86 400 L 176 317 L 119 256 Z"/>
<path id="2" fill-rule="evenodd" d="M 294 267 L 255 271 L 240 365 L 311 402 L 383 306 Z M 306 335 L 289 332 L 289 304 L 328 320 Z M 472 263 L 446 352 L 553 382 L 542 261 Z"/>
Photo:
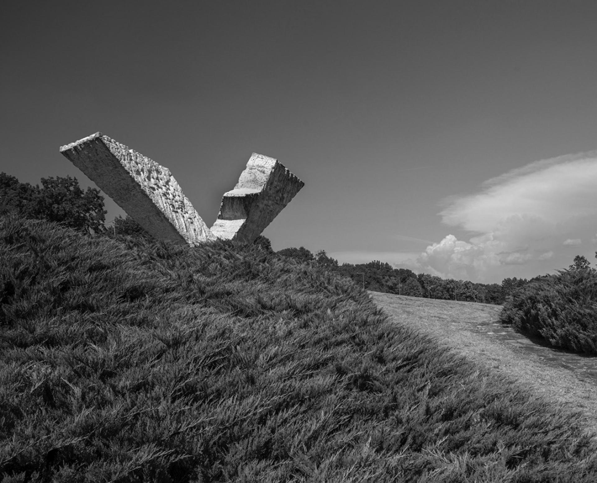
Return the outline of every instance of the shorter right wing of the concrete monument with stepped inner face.
<path id="1" fill-rule="evenodd" d="M 303 186 L 277 159 L 253 153 L 234 189 L 224 193 L 211 232 L 253 242 Z"/>

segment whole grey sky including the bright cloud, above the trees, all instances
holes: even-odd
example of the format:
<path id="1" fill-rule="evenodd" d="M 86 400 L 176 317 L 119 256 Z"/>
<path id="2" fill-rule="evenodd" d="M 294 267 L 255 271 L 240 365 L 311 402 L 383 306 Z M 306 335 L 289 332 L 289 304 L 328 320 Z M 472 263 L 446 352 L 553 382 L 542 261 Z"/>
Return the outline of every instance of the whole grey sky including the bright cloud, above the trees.
<path id="1" fill-rule="evenodd" d="M 211 226 L 251 153 L 304 188 L 264 231 L 477 282 L 597 250 L 597 2 L 29 2 L 0 29 L 0 171 L 92 181 L 101 133 Z M 106 199 L 107 221 L 124 215 Z"/>

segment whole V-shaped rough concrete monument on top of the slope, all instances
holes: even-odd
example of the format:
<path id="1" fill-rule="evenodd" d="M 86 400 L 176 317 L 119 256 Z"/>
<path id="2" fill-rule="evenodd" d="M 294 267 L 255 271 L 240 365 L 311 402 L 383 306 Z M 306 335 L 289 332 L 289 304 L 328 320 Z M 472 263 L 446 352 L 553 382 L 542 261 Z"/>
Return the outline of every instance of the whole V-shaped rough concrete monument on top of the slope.
<path id="1" fill-rule="evenodd" d="M 210 230 L 170 170 L 124 144 L 96 133 L 60 152 L 152 236 L 190 245 L 253 242 L 304 186 L 276 159 L 253 153 Z"/>

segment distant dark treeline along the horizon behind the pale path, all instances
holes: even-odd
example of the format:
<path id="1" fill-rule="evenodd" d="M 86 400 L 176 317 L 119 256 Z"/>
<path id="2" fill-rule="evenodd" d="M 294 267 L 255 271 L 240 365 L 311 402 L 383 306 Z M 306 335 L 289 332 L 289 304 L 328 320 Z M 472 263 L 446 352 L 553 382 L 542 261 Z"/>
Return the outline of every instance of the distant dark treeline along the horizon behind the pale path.
<path id="1" fill-rule="evenodd" d="M 300 262 L 315 263 L 333 272 L 350 277 L 365 290 L 426 297 L 428 299 L 461 300 L 503 304 L 513 291 L 528 284 L 525 278 L 506 278 L 501 284 L 479 284 L 467 280 L 444 279 L 428 273 L 414 273 L 413 270 L 394 268 L 389 263 L 374 260 L 369 263 L 343 263 L 328 256 L 324 251 L 313 254 L 307 248 L 284 248 L 276 252 Z"/>

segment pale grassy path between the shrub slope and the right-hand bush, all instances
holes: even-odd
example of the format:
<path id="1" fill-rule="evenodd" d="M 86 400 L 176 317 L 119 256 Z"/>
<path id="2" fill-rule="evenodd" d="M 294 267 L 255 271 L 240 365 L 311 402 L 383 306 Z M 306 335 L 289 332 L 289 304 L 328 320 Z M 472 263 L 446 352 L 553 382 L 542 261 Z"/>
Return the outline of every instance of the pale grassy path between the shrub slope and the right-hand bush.
<path id="1" fill-rule="evenodd" d="M 498 322 L 501 307 L 369 292 L 398 324 L 498 370 L 550 401 L 581 411 L 597 434 L 597 358 L 555 350 Z"/>

